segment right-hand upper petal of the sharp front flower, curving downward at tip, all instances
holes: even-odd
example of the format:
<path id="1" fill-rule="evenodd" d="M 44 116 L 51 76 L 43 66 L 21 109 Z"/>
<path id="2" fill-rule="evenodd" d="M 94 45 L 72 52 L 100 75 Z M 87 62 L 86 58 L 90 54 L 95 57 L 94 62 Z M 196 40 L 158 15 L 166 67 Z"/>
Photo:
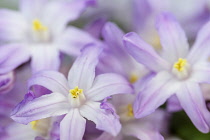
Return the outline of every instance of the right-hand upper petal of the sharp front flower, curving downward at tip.
<path id="1" fill-rule="evenodd" d="M 119 93 L 133 93 L 133 89 L 123 76 L 106 73 L 95 78 L 93 86 L 87 91 L 86 96 L 89 100 L 99 101 Z"/>

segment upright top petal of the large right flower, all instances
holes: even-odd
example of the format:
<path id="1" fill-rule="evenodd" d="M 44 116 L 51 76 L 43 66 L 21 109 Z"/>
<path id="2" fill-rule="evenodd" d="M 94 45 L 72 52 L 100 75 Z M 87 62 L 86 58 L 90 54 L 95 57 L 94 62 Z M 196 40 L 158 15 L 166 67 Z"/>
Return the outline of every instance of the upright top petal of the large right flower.
<path id="1" fill-rule="evenodd" d="M 178 58 L 185 58 L 189 51 L 189 44 L 185 32 L 175 17 L 168 13 L 159 15 L 156 27 L 163 47 L 163 56 L 171 62 L 177 61 Z"/>

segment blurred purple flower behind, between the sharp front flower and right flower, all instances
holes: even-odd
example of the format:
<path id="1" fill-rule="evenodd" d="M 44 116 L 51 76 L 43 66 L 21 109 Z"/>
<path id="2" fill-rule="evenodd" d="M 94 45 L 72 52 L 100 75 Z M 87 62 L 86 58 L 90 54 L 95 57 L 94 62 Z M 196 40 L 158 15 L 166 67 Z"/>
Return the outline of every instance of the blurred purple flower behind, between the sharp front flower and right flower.
<path id="1" fill-rule="evenodd" d="M 123 31 L 114 23 L 107 22 L 102 29 L 106 50 L 98 66 L 101 72 L 115 72 L 135 83 L 147 73 L 143 65 L 137 63 L 123 46 Z M 111 59 L 111 61 L 110 61 Z M 114 66 L 114 67 L 113 67 Z"/>

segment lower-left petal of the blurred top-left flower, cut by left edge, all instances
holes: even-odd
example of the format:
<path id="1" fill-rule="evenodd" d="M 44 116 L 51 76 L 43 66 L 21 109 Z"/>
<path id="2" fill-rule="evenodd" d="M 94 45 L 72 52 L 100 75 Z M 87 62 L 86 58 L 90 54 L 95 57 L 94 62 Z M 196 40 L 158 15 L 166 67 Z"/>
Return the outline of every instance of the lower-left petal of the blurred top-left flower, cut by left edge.
<path id="1" fill-rule="evenodd" d="M 0 52 L 0 74 L 14 70 L 30 58 L 29 51 L 21 44 L 3 45 Z"/>

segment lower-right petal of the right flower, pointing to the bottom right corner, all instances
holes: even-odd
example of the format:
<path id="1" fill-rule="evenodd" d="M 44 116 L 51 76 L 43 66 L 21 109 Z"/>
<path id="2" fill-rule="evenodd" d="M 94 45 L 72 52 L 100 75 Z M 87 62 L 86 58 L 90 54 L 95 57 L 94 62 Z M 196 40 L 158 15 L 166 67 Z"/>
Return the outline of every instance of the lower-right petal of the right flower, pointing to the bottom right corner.
<path id="1" fill-rule="evenodd" d="M 193 82 L 185 83 L 176 95 L 197 129 L 203 133 L 208 133 L 210 113 L 206 108 L 199 85 Z"/>

